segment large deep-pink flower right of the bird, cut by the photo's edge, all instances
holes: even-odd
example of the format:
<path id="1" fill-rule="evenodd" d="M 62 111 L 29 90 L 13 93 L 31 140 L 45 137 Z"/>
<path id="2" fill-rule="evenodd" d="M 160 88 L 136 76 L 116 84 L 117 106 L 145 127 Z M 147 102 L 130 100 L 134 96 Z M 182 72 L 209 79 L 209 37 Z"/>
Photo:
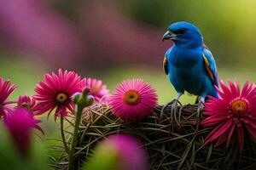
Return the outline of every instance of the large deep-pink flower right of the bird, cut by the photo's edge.
<path id="1" fill-rule="evenodd" d="M 235 132 L 239 147 L 242 150 L 244 143 L 244 130 L 250 134 L 256 142 L 256 86 L 246 82 L 242 90 L 238 82 L 229 81 L 229 86 L 220 82 L 222 90 L 218 89 L 219 99 L 208 96 L 206 102 L 205 118 L 203 127 L 214 127 L 208 134 L 205 144 L 216 140 L 216 146 L 226 142 L 228 147 Z"/>

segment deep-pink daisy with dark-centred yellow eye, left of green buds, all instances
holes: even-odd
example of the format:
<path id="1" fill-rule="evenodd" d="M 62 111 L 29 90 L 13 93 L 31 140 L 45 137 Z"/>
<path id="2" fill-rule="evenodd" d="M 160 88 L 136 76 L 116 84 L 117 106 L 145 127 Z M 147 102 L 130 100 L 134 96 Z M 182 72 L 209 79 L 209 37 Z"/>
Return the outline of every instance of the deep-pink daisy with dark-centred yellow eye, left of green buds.
<path id="1" fill-rule="evenodd" d="M 80 77 L 74 71 L 64 71 L 59 69 L 58 74 L 45 74 L 44 82 L 38 82 L 34 98 L 36 105 L 34 110 L 37 114 L 55 110 L 56 116 L 67 116 L 67 111 L 73 113 L 73 94 L 79 92 Z"/>

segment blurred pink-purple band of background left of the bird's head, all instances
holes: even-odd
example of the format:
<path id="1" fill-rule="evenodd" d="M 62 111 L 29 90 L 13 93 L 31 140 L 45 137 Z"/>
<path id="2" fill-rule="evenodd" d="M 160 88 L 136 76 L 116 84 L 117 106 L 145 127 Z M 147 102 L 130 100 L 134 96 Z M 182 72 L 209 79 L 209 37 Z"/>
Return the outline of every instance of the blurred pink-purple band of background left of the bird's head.
<path id="1" fill-rule="evenodd" d="M 1 53 L 49 67 L 159 66 L 171 44 L 161 42 L 163 30 L 125 18 L 111 0 L 73 1 L 69 17 L 52 8 L 51 1 L 0 3 Z"/>

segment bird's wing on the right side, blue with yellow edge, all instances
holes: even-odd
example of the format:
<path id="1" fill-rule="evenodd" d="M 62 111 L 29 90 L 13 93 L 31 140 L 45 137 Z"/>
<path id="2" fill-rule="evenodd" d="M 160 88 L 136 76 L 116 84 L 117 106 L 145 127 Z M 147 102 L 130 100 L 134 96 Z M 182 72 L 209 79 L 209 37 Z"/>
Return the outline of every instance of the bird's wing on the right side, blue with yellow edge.
<path id="1" fill-rule="evenodd" d="M 218 74 L 216 63 L 211 51 L 207 47 L 203 48 L 203 60 L 204 65 L 207 69 L 207 73 L 212 80 L 212 83 L 218 87 Z"/>

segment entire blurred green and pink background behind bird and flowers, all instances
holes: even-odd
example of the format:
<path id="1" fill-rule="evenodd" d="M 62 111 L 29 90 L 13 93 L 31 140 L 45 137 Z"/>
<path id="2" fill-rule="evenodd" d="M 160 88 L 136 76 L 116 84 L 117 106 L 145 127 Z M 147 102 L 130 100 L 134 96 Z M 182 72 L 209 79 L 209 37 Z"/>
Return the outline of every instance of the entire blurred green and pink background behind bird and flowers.
<path id="1" fill-rule="evenodd" d="M 111 91 L 126 78 L 143 78 L 157 90 L 160 104 L 165 104 L 176 93 L 161 63 L 171 43 L 160 38 L 168 25 L 179 20 L 201 29 L 220 79 L 237 78 L 241 84 L 256 81 L 253 0 L 24 0 L 23 8 L 5 5 L 0 8 L 0 19 L 6 23 L 0 27 L 0 76 L 19 86 L 11 99 L 32 95 L 44 73 L 62 67 L 82 77 L 102 79 Z M 42 13 L 30 18 L 38 8 Z M 22 20 L 15 23 L 14 19 Z M 193 103 L 195 96 L 186 94 L 181 100 Z M 45 123 L 48 129 L 58 127 Z M 55 131 L 46 135 L 50 133 Z"/>

